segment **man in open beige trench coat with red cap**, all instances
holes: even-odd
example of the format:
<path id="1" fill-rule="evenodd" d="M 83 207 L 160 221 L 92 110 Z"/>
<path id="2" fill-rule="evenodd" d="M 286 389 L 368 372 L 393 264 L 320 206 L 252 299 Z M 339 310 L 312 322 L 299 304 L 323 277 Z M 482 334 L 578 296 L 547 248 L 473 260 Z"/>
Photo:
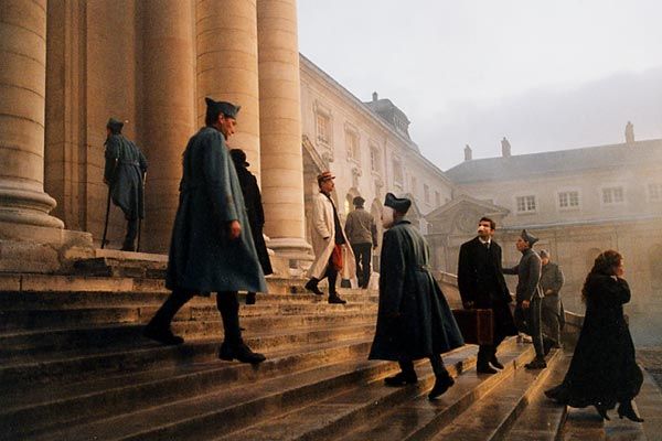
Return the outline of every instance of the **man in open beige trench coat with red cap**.
<path id="1" fill-rule="evenodd" d="M 338 211 L 331 200 L 335 186 L 331 172 L 318 175 L 320 192 L 312 196 L 312 249 L 314 261 L 308 270 L 310 280 L 306 289 L 318 295 L 324 293 L 318 288 L 323 278 L 329 280 L 329 303 L 346 303 L 335 291 L 338 273 L 345 279 L 353 279 L 355 272 L 354 254 L 348 240 Z"/>

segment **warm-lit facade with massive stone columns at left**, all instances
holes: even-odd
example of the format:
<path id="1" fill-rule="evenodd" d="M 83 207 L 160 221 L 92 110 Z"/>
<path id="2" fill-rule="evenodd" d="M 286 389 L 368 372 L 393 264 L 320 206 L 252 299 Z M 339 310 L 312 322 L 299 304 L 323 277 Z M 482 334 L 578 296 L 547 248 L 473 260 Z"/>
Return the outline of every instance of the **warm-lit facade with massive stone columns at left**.
<path id="1" fill-rule="evenodd" d="M 28 265 L 41 259 L 29 244 L 98 245 L 110 116 L 150 162 L 143 250 L 166 251 L 205 96 L 242 106 L 231 146 L 261 180 L 270 246 L 309 251 L 295 0 L 0 0 L 0 268 L 11 256 L 24 260 L 14 269 L 56 267 Z M 114 211 L 111 243 L 124 223 Z"/>

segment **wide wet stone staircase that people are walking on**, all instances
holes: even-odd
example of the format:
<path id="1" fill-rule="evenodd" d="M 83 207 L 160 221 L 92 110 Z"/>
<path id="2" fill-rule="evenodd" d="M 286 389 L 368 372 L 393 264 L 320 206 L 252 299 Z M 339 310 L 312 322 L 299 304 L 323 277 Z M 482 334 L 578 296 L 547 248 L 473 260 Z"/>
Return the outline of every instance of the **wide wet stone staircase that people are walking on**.
<path id="1" fill-rule="evenodd" d="M 161 346 L 141 330 L 168 295 L 162 280 L 121 277 L 121 261 L 111 265 L 115 277 L 0 276 L 0 439 L 662 438 L 662 395 L 650 377 L 640 396 L 644 424 L 601 422 L 592 409 L 568 412 L 542 394 L 563 379 L 568 354 L 528 372 L 532 345 L 514 338 L 500 347 L 505 368 L 496 375 L 476 373 L 476 346 L 445 354 L 456 385 L 438 400 L 427 399 L 426 361 L 417 385 L 385 387 L 396 364 L 366 359 L 373 291 L 341 290 L 349 303 L 332 305 L 303 293 L 303 280 L 270 279 L 270 293 L 239 312 L 245 340 L 267 355 L 258 366 L 217 359 L 212 299 L 194 299 L 175 318 L 184 345 Z"/>

